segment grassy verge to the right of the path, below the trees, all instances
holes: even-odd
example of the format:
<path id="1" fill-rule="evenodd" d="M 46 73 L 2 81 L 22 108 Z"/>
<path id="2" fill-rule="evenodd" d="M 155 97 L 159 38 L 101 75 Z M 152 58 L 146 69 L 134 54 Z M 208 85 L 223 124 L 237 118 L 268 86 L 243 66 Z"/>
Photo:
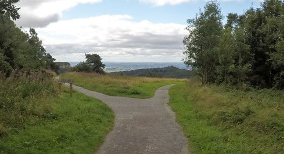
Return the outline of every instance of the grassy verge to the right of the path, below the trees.
<path id="1" fill-rule="evenodd" d="M 284 154 L 284 92 L 177 84 L 169 104 L 193 154 Z"/>

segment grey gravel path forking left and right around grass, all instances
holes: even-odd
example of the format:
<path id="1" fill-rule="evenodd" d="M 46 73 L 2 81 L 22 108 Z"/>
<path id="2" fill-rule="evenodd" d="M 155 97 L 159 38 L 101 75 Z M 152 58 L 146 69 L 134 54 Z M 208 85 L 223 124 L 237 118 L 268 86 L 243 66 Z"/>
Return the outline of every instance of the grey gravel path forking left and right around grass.
<path id="1" fill-rule="evenodd" d="M 115 126 L 95 154 L 189 154 L 188 142 L 167 105 L 167 85 L 149 99 L 107 96 L 78 86 L 74 90 L 104 101 Z"/>

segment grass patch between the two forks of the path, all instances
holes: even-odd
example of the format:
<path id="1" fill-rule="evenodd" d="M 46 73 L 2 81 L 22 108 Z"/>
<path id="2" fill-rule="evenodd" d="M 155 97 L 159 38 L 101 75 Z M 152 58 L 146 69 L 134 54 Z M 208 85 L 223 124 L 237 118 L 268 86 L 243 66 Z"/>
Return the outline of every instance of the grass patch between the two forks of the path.
<path id="1" fill-rule="evenodd" d="M 75 85 L 110 96 L 149 98 L 157 88 L 179 83 L 182 79 L 104 76 L 92 73 L 66 73 L 61 78 L 75 78 Z"/>

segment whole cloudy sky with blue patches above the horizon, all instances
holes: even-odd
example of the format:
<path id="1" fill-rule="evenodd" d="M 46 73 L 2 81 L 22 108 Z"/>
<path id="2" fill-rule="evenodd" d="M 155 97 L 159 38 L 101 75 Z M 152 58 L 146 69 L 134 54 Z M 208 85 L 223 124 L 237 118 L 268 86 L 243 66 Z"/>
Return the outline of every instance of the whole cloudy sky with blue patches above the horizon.
<path id="1" fill-rule="evenodd" d="M 20 0 L 17 26 L 35 28 L 56 61 L 181 62 L 186 20 L 208 0 Z M 261 0 L 218 0 L 228 13 L 243 14 Z"/>

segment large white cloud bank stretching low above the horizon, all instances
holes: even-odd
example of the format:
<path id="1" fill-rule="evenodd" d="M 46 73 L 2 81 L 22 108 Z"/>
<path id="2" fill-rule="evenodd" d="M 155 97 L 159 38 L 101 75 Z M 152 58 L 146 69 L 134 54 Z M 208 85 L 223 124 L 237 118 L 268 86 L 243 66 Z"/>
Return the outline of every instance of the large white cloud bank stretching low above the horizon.
<path id="1" fill-rule="evenodd" d="M 58 21 L 36 31 L 58 61 L 82 61 L 84 53 L 97 53 L 106 61 L 180 61 L 185 26 L 104 15 Z"/>

